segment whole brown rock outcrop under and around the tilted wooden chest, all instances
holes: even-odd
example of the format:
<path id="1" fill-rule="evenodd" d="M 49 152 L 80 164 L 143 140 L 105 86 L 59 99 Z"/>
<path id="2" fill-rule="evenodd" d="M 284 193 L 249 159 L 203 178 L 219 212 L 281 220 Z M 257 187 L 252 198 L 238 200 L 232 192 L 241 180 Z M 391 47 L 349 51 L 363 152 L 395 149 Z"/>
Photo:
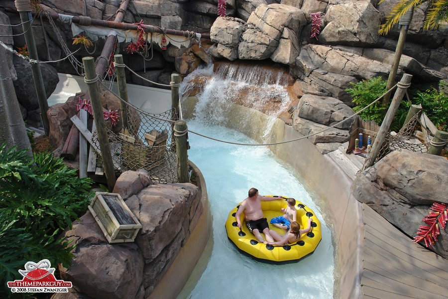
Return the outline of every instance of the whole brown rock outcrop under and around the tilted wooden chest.
<path id="1" fill-rule="evenodd" d="M 76 292 L 53 299 L 147 298 L 203 212 L 193 184 L 151 184 L 144 171 L 124 172 L 117 183 L 143 228 L 134 243 L 109 244 L 90 211 L 74 222 L 64 236 L 77 245 L 75 258 L 70 269 L 60 265 L 59 270 Z"/>

